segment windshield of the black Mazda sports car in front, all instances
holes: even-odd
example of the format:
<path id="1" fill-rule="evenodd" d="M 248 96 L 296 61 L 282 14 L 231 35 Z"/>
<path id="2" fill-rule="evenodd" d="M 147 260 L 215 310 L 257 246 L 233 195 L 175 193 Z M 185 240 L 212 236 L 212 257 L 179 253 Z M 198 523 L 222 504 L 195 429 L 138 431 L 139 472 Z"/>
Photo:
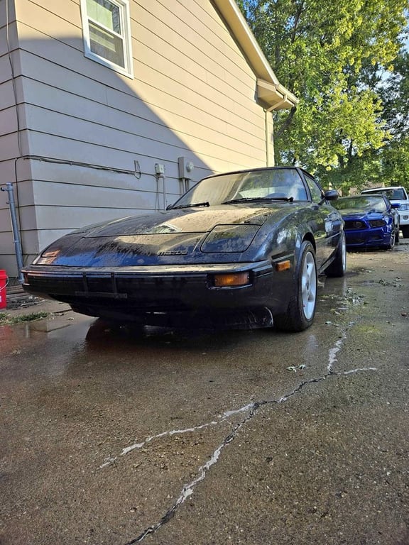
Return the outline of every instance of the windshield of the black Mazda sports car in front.
<path id="1" fill-rule="evenodd" d="M 172 208 L 251 201 L 306 201 L 307 191 L 295 168 L 246 170 L 211 176 L 183 195 Z"/>

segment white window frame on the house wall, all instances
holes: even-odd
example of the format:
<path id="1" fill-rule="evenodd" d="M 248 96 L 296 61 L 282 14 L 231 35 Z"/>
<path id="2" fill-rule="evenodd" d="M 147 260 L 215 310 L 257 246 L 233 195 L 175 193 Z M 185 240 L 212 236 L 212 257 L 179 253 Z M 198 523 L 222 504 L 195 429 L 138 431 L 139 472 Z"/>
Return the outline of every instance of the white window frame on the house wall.
<path id="1" fill-rule="evenodd" d="M 99 62 L 101 65 L 107 66 L 116 72 L 131 77 L 133 79 L 133 57 L 132 57 L 132 45 L 131 45 L 131 16 L 129 13 L 129 0 L 109 0 L 114 6 L 118 6 L 121 17 L 121 30 L 122 34 L 116 34 L 107 28 L 110 34 L 116 35 L 121 38 L 124 54 L 124 65 L 116 65 L 115 62 L 97 55 L 91 50 L 90 38 L 89 38 L 89 21 L 97 23 L 97 26 L 105 28 L 100 21 L 96 21 L 89 17 L 87 13 L 87 0 L 81 0 L 81 17 L 82 17 L 82 36 L 84 38 L 84 55 L 85 57 Z"/>

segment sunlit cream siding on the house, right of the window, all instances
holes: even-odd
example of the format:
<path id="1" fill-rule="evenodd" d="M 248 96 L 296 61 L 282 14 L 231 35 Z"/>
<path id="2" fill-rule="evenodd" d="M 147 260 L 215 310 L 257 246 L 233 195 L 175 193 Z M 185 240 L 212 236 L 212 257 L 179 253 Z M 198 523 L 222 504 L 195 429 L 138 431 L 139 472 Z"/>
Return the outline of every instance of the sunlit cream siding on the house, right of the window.
<path id="1" fill-rule="evenodd" d="M 137 13 L 133 35 L 141 55 L 136 56 L 135 75 L 146 104 L 171 128 L 173 115 L 185 111 L 178 99 L 195 109 L 177 126 L 187 145 L 212 169 L 229 167 L 226 159 L 231 167 L 263 163 L 263 112 L 254 102 L 255 77 L 211 4 L 153 2 Z M 216 131 L 219 153 L 204 152 L 197 145 L 192 120 L 198 115 L 201 139 L 219 143 Z M 246 148 L 242 158 L 240 143 Z"/>

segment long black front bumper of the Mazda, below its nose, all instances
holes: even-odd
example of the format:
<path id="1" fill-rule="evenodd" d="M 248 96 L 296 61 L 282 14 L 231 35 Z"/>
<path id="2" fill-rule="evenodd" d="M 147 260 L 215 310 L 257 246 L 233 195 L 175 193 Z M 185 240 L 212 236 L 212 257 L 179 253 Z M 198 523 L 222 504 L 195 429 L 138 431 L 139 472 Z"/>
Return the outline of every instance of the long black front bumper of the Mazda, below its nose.
<path id="1" fill-rule="evenodd" d="M 250 285 L 212 283 L 214 274 L 246 271 Z M 254 326 L 271 326 L 271 312 L 288 307 L 293 286 L 292 270 L 276 272 L 268 261 L 117 268 L 32 265 L 23 277 L 27 292 L 66 302 L 82 314 L 170 326 L 192 318 L 237 325 L 239 316 L 245 323 L 250 316 Z"/>

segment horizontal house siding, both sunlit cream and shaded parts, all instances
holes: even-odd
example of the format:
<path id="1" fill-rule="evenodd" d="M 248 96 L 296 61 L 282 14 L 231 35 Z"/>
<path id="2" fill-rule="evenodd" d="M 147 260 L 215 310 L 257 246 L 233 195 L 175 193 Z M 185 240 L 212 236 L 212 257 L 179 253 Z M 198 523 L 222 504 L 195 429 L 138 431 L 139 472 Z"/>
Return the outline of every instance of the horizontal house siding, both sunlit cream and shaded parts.
<path id="1" fill-rule="evenodd" d="M 26 263 L 72 229 L 174 202 L 179 157 L 195 165 L 191 183 L 266 165 L 256 76 L 211 1 L 130 0 L 133 79 L 84 57 L 80 0 L 14 2 L 15 89 L 0 11 L 0 185 L 14 183 Z"/>

